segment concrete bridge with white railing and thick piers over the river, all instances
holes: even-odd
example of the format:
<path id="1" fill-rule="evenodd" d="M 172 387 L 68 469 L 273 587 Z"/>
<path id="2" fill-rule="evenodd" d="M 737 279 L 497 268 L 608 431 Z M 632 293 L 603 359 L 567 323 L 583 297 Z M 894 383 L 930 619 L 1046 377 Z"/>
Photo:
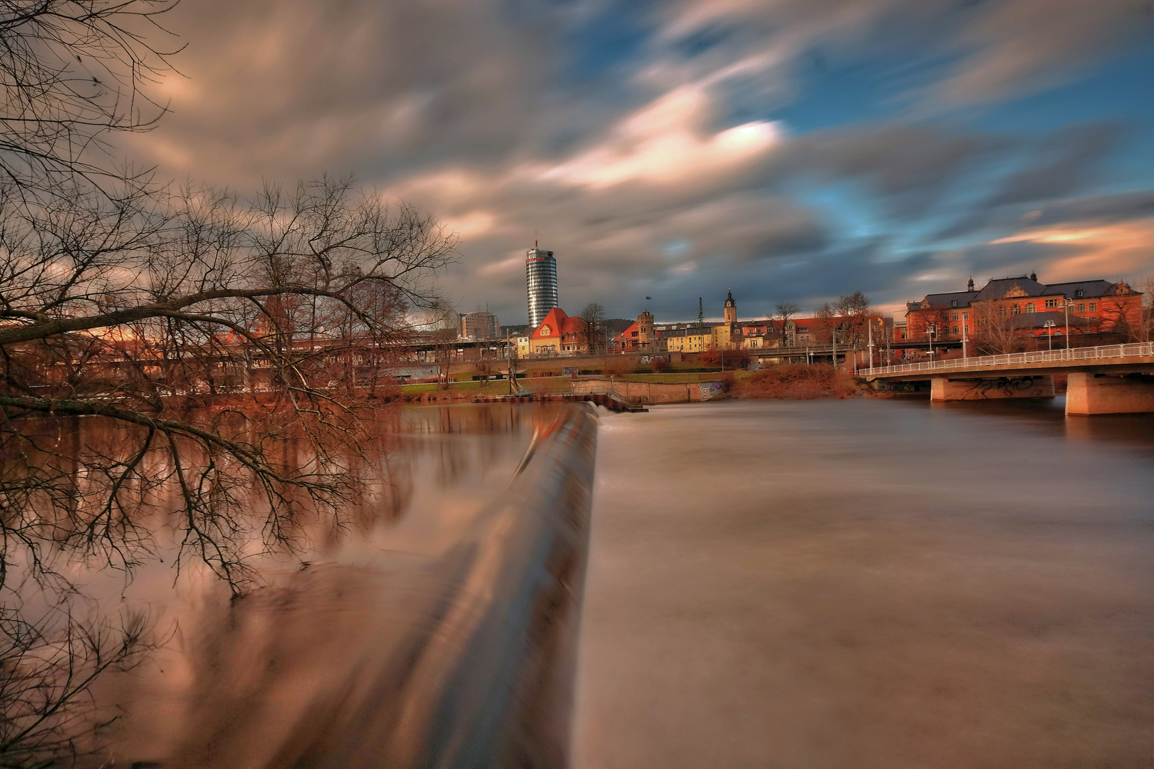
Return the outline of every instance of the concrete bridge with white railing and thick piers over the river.
<path id="1" fill-rule="evenodd" d="M 1154 412 L 1154 342 L 956 357 L 860 369 L 870 382 L 930 382 L 930 400 L 1052 398 L 1069 376 L 1066 415 Z"/>

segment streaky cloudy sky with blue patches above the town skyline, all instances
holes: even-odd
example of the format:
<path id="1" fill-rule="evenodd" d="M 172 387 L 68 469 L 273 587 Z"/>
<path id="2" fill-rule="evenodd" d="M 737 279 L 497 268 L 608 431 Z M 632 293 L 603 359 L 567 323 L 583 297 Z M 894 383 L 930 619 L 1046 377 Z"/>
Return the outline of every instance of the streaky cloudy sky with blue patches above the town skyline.
<path id="1" fill-rule="evenodd" d="M 122 137 L 240 193 L 354 174 L 459 236 L 462 311 L 883 310 L 1154 276 L 1154 0 L 182 0 Z M 651 297 L 646 300 L 646 297 Z"/>

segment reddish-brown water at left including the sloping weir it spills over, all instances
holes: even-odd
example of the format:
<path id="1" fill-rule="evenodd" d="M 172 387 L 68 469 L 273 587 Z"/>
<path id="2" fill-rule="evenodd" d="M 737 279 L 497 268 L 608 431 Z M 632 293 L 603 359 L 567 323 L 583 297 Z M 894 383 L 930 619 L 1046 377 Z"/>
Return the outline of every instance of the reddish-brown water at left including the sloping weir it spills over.
<path id="1" fill-rule="evenodd" d="M 564 766 L 595 413 L 409 419 L 399 451 L 415 469 L 392 484 L 411 495 L 395 522 L 231 605 L 211 586 L 160 598 L 178 629 L 153 669 L 110 686 L 126 717 L 105 759 Z"/>

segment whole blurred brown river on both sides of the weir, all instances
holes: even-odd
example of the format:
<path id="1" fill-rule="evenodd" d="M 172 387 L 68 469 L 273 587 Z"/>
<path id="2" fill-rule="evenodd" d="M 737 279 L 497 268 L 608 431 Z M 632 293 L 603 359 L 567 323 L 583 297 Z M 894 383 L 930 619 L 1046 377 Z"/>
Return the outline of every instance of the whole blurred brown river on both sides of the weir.
<path id="1" fill-rule="evenodd" d="M 93 573 L 164 644 L 88 766 L 1154 766 L 1154 415 L 585 408 L 394 413 L 239 601 Z"/>

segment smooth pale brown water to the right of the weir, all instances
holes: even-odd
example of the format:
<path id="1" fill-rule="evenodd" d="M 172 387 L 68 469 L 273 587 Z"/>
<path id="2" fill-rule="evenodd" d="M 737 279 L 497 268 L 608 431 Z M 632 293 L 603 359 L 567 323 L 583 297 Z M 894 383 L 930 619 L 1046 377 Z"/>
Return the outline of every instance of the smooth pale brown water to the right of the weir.
<path id="1" fill-rule="evenodd" d="M 577 769 L 1154 766 L 1154 416 L 607 416 Z"/>

